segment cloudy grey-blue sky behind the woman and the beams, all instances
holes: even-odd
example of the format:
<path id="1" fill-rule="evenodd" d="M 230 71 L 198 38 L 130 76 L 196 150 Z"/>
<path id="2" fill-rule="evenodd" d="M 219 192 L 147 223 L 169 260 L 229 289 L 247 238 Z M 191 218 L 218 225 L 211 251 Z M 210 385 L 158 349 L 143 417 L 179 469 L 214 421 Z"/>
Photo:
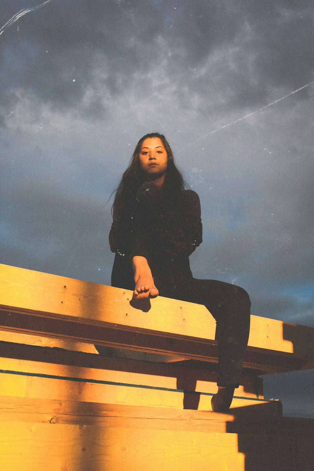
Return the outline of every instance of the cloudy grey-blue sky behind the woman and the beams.
<path id="1" fill-rule="evenodd" d="M 111 204 L 166 135 L 200 195 L 197 278 L 314 326 L 311 0 L 0 0 L 1 263 L 110 284 Z M 264 377 L 314 416 L 314 372 Z M 284 387 L 283 387 L 284 385 Z"/>

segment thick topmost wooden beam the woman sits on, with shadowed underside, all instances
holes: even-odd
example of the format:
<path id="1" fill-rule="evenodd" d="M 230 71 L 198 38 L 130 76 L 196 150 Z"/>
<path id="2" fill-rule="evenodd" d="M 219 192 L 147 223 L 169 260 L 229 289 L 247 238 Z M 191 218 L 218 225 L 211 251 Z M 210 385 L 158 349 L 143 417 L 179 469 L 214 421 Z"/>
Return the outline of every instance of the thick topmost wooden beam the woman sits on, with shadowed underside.
<path id="1" fill-rule="evenodd" d="M 130 297 L 119 288 L 1 265 L 0 327 L 217 362 L 215 321 L 204 306 L 159 296 L 141 310 Z M 268 373 L 313 368 L 314 329 L 252 316 L 244 366 Z"/>

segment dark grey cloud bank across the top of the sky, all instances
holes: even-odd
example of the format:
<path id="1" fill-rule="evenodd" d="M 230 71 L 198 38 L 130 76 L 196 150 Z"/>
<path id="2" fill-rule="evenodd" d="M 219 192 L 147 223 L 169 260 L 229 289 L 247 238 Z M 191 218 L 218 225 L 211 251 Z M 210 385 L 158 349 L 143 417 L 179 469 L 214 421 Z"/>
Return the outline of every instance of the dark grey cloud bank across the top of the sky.
<path id="1" fill-rule="evenodd" d="M 4 16 L 20 7 L 10 2 Z M 164 1 L 147 8 L 143 1 L 55 0 L 1 36 L 2 106 L 8 112 L 24 90 L 52 108 L 109 119 L 105 96 L 134 85 L 151 93 L 152 73 L 161 70 L 180 83 L 174 94 L 181 106 L 194 108 L 194 96 L 200 114 L 245 109 L 265 104 L 272 87 L 310 81 L 311 37 L 302 3 Z M 214 97 L 218 90 L 223 100 Z"/>

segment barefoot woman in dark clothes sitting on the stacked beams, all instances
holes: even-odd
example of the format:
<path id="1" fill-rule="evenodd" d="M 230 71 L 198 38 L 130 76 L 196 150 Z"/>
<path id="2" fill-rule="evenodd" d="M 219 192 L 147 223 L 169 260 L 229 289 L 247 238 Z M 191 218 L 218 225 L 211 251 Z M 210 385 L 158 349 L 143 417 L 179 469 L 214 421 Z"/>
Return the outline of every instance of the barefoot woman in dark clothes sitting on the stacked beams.
<path id="1" fill-rule="evenodd" d="M 201 242 L 198 195 L 185 189 L 166 138 L 146 134 L 133 153 L 113 203 L 109 243 L 112 286 L 134 298 L 161 296 L 203 304 L 217 322 L 215 412 L 229 409 L 239 387 L 250 330 L 250 298 L 239 286 L 193 278 L 189 255 Z M 205 327 L 206 328 L 206 327 Z"/>

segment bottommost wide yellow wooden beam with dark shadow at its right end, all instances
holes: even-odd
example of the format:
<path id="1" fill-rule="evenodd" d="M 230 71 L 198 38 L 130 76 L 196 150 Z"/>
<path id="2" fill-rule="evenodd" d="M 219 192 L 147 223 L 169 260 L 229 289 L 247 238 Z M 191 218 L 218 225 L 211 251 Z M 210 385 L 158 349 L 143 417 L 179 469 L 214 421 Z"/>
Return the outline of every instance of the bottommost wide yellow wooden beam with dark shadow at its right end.
<path id="1" fill-rule="evenodd" d="M 314 439 L 0 422 L 1 471 L 312 471 Z"/>

